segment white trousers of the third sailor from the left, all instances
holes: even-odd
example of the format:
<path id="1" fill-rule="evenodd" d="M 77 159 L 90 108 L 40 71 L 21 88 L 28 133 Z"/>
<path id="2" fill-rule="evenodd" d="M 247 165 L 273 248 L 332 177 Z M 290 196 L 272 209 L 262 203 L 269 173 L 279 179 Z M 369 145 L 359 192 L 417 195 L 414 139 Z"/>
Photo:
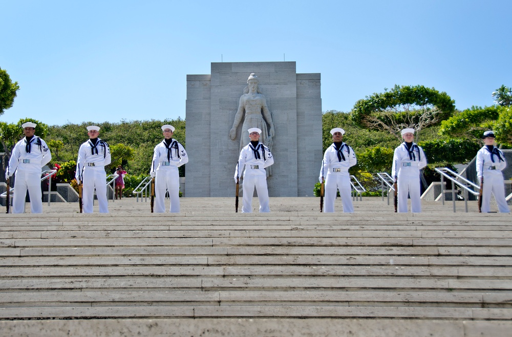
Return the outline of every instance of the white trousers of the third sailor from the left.
<path id="1" fill-rule="evenodd" d="M 180 212 L 180 172 L 177 166 L 158 169 L 155 175 L 155 213 L 165 212 L 165 191 L 169 191 L 171 213 Z"/>

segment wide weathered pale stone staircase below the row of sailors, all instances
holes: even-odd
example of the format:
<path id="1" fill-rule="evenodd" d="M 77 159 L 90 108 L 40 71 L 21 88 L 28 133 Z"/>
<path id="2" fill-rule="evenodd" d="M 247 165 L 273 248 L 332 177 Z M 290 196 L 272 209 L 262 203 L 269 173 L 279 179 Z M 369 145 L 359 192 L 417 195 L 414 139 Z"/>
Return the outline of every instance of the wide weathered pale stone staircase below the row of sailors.
<path id="1" fill-rule="evenodd" d="M 512 335 L 510 214 L 233 199 L 0 214 L 0 335 Z"/>

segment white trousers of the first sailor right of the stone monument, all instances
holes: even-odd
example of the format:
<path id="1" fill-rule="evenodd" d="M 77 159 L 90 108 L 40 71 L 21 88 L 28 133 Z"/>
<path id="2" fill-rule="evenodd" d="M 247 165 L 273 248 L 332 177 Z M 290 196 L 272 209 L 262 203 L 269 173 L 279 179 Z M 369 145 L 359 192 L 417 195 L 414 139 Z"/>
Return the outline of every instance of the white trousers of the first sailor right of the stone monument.
<path id="1" fill-rule="evenodd" d="M 329 172 L 325 179 L 325 203 L 324 211 L 326 213 L 334 212 L 334 200 L 336 199 L 336 191 L 342 197 L 343 213 L 354 213 L 352 205 L 352 188 L 350 186 L 349 172 Z"/>

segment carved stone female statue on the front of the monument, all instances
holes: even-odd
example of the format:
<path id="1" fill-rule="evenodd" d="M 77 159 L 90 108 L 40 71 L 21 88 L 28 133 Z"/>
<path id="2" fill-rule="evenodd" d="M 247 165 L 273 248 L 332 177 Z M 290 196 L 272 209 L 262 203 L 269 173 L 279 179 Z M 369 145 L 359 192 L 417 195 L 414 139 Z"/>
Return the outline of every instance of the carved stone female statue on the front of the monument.
<path id="1" fill-rule="evenodd" d="M 240 97 L 238 111 L 234 116 L 233 126 L 229 131 L 229 138 L 234 141 L 237 138 L 237 127 L 242 121 L 245 110 L 245 119 L 242 124 L 242 137 L 240 139 L 239 151 L 242 151 L 242 148 L 249 142 L 247 130 L 252 127 L 257 127 L 262 130 L 260 134 L 260 142 L 272 150 L 274 123 L 272 122 L 270 110 L 267 107 L 267 100 L 265 99 L 265 96 L 261 94 L 258 83 L 258 76 L 252 73 L 247 79 L 247 86 L 244 89 L 244 94 Z M 267 128 L 267 123 L 270 128 Z M 267 168 L 267 175 L 271 175 L 270 167 Z"/>

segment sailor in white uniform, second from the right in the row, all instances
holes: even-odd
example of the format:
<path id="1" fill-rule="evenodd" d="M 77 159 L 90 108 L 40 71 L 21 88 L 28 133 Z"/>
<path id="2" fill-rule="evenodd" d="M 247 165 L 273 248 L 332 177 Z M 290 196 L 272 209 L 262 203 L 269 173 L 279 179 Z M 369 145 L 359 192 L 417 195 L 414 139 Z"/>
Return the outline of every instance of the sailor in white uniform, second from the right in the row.
<path id="1" fill-rule="evenodd" d="M 426 166 L 423 149 L 413 143 L 414 129 L 406 128 L 400 131 L 404 142 L 395 148 L 391 176 L 396 181 L 398 177 L 398 207 L 397 212 L 407 213 L 407 196 L 411 196 L 411 212 L 421 212 L 419 170 Z"/>

